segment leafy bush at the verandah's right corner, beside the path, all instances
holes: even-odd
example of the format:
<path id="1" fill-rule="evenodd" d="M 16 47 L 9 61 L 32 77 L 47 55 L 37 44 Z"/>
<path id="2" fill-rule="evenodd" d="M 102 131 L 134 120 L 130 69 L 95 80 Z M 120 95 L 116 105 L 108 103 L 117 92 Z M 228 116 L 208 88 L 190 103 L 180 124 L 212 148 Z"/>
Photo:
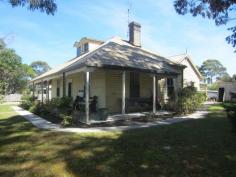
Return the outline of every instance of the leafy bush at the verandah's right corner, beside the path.
<path id="1" fill-rule="evenodd" d="M 181 114 L 194 112 L 206 100 L 205 92 L 197 92 L 195 87 L 188 86 L 178 92 L 176 111 Z"/>

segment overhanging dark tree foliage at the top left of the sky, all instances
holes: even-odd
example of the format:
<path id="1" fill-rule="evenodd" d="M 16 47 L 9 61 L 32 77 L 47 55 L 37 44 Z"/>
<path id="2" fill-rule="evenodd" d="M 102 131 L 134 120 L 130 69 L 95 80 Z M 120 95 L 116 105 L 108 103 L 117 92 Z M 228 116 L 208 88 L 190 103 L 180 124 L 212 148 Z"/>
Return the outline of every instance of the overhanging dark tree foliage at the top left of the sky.
<path id="1" fill-rule="evenodd" d="M 55 0 L 9 0 L 12 7 L 22 6 L 29 10 L 40 10 L 48 15 L 54 15 L 57 10 Z"/>

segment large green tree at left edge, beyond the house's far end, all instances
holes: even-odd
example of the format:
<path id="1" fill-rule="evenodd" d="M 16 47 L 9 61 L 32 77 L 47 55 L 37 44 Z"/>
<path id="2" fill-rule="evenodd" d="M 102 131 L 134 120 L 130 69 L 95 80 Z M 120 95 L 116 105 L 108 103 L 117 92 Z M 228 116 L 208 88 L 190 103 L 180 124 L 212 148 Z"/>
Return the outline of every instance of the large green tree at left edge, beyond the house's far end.
<path id="1" fill-rule="evenodd" d="M 32 77 L 33 69 L 22 64 L 14 50 L 0 50 L 0 95 L 21 91 Z"/>

